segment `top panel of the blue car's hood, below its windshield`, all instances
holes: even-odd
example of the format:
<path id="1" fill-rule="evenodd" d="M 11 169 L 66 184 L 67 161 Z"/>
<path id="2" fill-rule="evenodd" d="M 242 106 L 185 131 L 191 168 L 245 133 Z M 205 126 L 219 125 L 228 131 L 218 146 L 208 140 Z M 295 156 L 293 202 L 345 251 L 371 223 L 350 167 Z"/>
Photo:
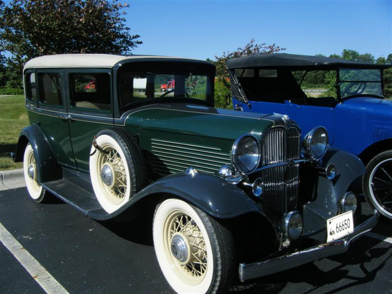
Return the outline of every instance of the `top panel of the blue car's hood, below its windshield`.
<path id="1" fill-rule="evenodd" d="M 392 118 L 392 100 L 371 97 L 351 98 L 345 100 L 342 106 L 345 109 L 360 110 L 366 114 Z"/>

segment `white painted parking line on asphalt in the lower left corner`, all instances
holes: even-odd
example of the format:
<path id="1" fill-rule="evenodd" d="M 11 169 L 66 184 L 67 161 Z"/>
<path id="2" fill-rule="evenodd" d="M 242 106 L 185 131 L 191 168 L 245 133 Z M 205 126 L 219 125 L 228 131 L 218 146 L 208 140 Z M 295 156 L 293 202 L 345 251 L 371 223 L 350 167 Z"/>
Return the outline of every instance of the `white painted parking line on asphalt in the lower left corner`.
<path id="1" fill-rule="evenodd" d="M 48 294 L 69 294 L 67 290 L 11 235 L 0 222 L 0 241 Z"/>

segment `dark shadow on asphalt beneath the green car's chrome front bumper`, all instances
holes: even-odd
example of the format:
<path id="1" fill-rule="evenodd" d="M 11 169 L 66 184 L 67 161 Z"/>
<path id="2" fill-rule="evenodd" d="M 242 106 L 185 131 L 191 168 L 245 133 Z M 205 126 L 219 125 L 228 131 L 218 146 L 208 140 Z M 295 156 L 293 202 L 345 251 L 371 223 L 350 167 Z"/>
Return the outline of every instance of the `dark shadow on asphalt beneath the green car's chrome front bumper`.
<path id="1" fill-rule="evenodd" d="M 353 286 L 366 284 L 373 281 L 377 272 L 382 270 L 387 262 L 392 259 L 392 251 L 390 250 L 392 246 L 373 248 L 379 243 L 381 241 L 372 238 L 367 238 L 366 242 L 357 241 L 357 243 L 353 243 L 348 252 L 332 256 L 325 260 L 328 262 L 328 265 L 329 263 L 332 265 L 328 266 L 328 270 L 322 270 L 317 264 L 309 263 L 295 270 L 285 270 L 266 277 L 252 279 L 245 283 L 238 281 L 230 288 L 230 292 L 274 294 L 282 291 L 288 283 L 306 283 L 308 284 L 306 286 L 307 291 L 300 292 L 311 293 L 322 286 L 332 285 L 343 279 L 347 280 L 343 286 L 339 286 L 328 292 L 323 292 L 332 294 L 347 290 Z M 381 258 L 381 262 L 378 261 L 375 267 L 373 266 L 371 270 L 368 270 L 369 267 L 367 267 L 367 264 L 377 258 Z M 352 273 L 349 268 L 345 268 L 350 265 L 354 266 L 354 269 L 359 268 L 361 274 L 357 272 Z M 342 283 L 339 285 L 342 285 Z M 301 287 L 301 290 L 304 290 L 304 288 Z"/>

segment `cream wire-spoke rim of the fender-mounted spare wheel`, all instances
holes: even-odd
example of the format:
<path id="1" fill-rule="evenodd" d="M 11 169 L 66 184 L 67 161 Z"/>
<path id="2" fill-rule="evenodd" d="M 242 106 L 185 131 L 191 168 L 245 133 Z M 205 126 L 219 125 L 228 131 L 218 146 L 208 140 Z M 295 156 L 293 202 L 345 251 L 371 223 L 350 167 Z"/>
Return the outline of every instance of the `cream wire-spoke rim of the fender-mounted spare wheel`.
<path id="1" fill-rule="evenodd" d="M 104 191 L 107 200 L 112 204 L 123 202 L 127 193 L 127 176 L 125 166 L 120 153 L 111 145 L 103 146 L 102 149 L 107 152 L 99 152 L 97 160 L 97 174 L 99 186 Z M 106 167 L 113 174 L 113 180 L 108 185 L 102 180 L 101 172 Z"/>

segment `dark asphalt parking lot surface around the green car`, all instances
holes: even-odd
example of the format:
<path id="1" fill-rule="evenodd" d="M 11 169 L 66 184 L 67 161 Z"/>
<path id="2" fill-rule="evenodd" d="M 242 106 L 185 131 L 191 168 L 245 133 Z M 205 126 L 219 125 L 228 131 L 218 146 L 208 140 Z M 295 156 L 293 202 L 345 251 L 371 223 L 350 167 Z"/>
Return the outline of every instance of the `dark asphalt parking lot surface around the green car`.
<path id="1" fill-rule="evenodd" d="M 69 293 L 173 293 L 155 257 L 148 216 L 97 222 L 60 200 L 35 203 L 18 188 L 0 191 L 0 222 Z M 391 221 L 381 220 L 373 232 L 385 239 L 391 228 Z M 230 292 L 392 293 L 392 244 L 386 240 L 364 236 L 347 254 L 237 282 Z M 45 293 L 1 243 L 0 254 L 0 293 Z"/>

